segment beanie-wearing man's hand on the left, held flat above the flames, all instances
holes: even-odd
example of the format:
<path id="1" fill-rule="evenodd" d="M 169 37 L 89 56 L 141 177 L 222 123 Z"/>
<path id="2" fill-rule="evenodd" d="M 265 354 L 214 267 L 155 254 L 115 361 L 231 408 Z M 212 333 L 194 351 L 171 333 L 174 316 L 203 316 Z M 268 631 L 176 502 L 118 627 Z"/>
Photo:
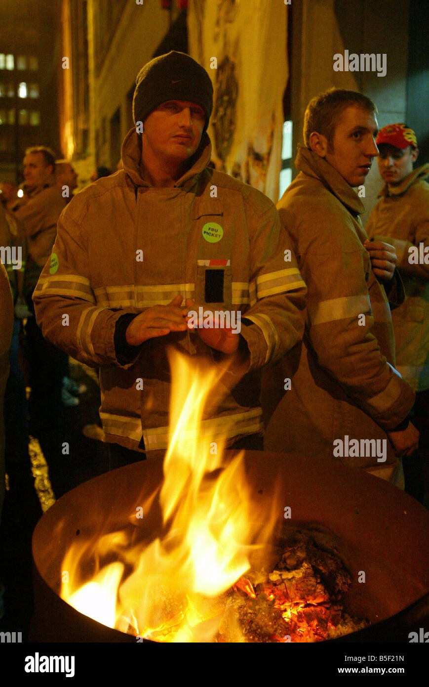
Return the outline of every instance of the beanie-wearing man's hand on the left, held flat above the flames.
<path id="1" fill-rule="evenodd" d="M 183 297 L 178 294 L 168 305 L 154 305 L 137 315 L 126 330 L 127 343 L 130 346 L 139 346 L 143 341 L 154 337 L 186 331 L 185 316 L 188 308 L 181 308 L 182 300 Z"/>

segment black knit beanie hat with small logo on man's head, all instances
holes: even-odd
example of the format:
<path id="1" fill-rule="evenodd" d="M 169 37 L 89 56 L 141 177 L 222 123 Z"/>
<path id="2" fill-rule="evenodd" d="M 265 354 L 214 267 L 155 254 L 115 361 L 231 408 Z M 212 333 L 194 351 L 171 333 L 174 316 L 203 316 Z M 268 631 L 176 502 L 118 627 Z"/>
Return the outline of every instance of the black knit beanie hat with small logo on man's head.
<path id="1" fill-rule="evenodd" d="M 167 100 L 200 105 L 206 115 L 204 131 L 207 129 L 213 109 L 213 86 L 207 71 L 184 52 L 172 50 L 140 69 L 132 99 L 134 123 L 144 122 L 152 110 Z"/>

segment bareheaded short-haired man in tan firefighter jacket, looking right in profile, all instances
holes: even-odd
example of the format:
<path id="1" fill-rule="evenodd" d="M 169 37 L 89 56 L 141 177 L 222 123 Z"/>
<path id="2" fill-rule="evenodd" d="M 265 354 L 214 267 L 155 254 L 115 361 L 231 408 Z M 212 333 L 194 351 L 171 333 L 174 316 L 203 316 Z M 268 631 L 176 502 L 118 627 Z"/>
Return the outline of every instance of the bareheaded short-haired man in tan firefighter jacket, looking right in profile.
<path id="1" fill-rule="evenodd" d="M 360 186 L 378 154 L 375 106 L 331 89 L 307 107 L 305 147 L 277 207 L 308 286 L 303 345 L 264 375 L 269 450 L 310 453 L 399 483 L 417 446 L 414 392 L 395 370 L 395 250 L 367 242 Z M 367 243 L 366 243 L 367 242 Z M 372 269 L 371 269 L 372 263 Z M 384 284 L 380 281 L 385 282 Z"/>

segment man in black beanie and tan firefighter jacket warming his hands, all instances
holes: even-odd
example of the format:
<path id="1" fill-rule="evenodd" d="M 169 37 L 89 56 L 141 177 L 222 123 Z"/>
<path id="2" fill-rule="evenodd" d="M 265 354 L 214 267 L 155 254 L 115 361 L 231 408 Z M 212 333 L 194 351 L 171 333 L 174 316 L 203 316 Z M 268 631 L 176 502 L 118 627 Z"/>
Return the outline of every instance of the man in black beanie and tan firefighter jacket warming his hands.
<path id="1" fill-rule="evenodd" d="M 305 284 L 294 257 L 285 262 L 290 243 L 275 205 L 208 167 L 212 98 L 207 72 L 183 53 L 141 69 L 124 169 L 71 200 L 34 293 L 45 337 L 100 366 L 100 417 L 115 465 L 167 447 L 167 344 L 242 364 L 244 379 L 205 426 L 227 433 L 228 445 L 244 438 L 256 446 L 258 368 L 303 333 Z M 242 313 L 240 333 L 190 330 L 190 308 L 231 311 L 231 322 Z"/>

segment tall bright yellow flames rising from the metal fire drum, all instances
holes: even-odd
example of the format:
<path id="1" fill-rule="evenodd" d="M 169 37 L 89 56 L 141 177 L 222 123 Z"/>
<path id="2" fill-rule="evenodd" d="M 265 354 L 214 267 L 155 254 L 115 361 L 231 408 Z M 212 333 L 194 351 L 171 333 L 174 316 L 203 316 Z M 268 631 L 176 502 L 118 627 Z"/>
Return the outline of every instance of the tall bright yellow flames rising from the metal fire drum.
<path id="1" fill-rule="evenodd" d="M 159 499 L 163 532 L 152 541 L 140 536 L 136 543 L 141 520 L 134 512 L 124 514 L 123 529 L 76 541 L 62 562 L 68 581 L 60 596 L 124 632 L 161 642 L 211 642 L 225 593 L 237 584 L 255 594 L 242 576 L 251 567 L 251 554 L 270 541 L 279 509 L 276 499 L 257 504 L 251 499 L 244 453 L 224 460 L 233 428 L 207 429 L 205 418 L 225 392 L 225 370 L 198 366 L 177 352 L 171 352 L 170 365 L 164 480 L 139 504 L 144 517 Z M 243 641 L 238 629 L 236 641 Z"/>

